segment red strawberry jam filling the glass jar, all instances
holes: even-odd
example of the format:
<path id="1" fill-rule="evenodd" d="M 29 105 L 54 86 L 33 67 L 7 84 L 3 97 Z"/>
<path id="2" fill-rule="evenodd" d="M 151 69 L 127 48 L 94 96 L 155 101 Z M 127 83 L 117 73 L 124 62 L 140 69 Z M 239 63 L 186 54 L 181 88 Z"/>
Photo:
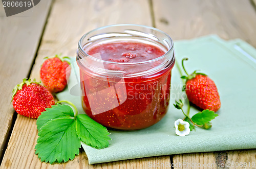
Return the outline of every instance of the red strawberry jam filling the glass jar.
<path id="1" fill-rule="evenodd" d="M 100 53 L 106 61 L 136 63 L 155 59 L 165 52 L 146 43 L 114 42 L 92 46 L 87 53 Z M 140 66 L 136 68 L 139 70 Z M 86 69 L 80 69 L 83 110 L 109 128 L 137 130 L 152 126 L 167 112 L 171 69 L 169 66 L 154 75 L 124 79 L 91 77 Z"/>

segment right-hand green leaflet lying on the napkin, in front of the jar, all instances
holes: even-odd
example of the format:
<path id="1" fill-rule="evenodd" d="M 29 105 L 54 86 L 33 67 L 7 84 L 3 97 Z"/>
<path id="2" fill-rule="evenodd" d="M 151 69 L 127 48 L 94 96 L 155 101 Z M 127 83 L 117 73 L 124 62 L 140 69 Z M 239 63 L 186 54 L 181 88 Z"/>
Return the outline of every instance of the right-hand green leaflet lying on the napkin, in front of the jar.
<path id="1" fill-rule="evenodd" d="M 86 114 L 78 114 L 76 122 L 77 135 L 82 142 L 98 149 L 109 146 L 108 140 L 111 138 L 108 135 L 110 133 L 105 127 L 95 122 Z"/>

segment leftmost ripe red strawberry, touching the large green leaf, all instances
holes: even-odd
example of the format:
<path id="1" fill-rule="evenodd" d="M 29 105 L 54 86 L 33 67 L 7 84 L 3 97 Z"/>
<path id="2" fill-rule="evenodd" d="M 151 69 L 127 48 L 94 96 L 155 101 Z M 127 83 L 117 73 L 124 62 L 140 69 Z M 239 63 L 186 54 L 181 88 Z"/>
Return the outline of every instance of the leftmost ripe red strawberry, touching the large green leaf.
<path id="1" fill-rule="evenodd" d="M 46 108 L 54 105 L 50 91 L 31 79 L 15 86 L 12 91 L 12 105 L 15 111 L 30 118 L 37 118 Z"/>

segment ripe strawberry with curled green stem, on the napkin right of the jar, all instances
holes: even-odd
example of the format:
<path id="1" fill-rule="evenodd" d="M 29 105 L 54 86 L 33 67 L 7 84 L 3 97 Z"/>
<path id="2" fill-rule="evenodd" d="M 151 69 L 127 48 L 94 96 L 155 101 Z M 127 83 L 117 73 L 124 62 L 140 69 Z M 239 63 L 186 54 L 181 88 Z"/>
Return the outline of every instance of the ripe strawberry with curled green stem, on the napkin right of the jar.
<path id="1" fill-rule="evenodd" d="M 183 64 L 184 60 L 188 59 L 182 60 L 182 67 L 187 74 Z M 191 103 L 204 110 L 209 109 L 216 112 L 220 109 L 221 101 L 216 84 L 207 75 L 194 71 L 190 75 L 187 74 L 187 77 L 182 76 L 181 78 L 186 79 L 185 91 Z"/>

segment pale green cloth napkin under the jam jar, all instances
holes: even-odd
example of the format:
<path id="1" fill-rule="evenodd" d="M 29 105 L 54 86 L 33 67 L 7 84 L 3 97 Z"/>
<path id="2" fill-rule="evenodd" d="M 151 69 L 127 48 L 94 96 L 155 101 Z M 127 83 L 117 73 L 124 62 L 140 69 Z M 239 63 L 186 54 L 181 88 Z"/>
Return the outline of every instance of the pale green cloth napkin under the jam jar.
<path id="1" fill-rule="evenodd" d="M 176 62 L 180 64 L 182 58 L 188 57 L 185 65 L 189 73 L 200 69 L 216 82 L 222 106 L 217 112 L 219 116 L 212 120 L 212 128 L 197 128 L 185 137 L 175 134 L 175 120 L 184 117 L 173 106 L 175 99 L 181 96 L 181 89 L 176 86 L 182 84 L 175 66 L 172 71 L 171 101 L 165 117 L 156 125 L 143 130 L 110 130 L 112 140 L 109 148 L 97 150 L 82 144 L 89 164 L 170 154 L 256 148 L 256 50 L 242 40 L 224 41 L 216 35 L 176 41 L 174 45 Z M 70 81 L 75 82 L 76 77 L 71 75 Z M 68 89 L 58 93 L 57 98 L 71 101 L 83 113 L 80 96 L 71 95 Z M 197 112 L 199 111 L 193 107 L 190 109 L 190 115 Z"/>

